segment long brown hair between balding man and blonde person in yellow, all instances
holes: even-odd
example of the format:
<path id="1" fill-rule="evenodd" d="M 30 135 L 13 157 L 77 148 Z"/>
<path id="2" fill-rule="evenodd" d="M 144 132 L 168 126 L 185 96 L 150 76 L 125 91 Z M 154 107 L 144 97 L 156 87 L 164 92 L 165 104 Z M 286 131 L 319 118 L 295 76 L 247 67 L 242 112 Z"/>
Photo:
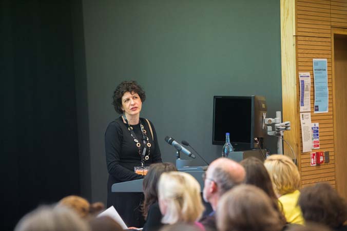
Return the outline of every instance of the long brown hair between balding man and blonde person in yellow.
<path id="1" fill-rule="evenodd" d="M 276 197 L 271 178 L 261 160 L 255 157 L 248 157 L 240 162 L 246 170 L 245 184 L 250 184 L 263 189 L 267 196 L 273 201 L 274 208 L 278 211 L 283 224 L 286 223 L 281 203 Z"/>

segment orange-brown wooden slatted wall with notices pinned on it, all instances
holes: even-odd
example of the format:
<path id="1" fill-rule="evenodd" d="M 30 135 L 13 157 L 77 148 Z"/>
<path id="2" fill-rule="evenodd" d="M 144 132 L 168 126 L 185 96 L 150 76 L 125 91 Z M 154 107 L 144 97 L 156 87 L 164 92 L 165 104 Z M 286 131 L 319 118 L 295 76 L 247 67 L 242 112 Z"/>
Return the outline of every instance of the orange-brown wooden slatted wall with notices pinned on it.
<path id="1" fill-rule="evenodd" d="M 331 28 L 347 28 L 347 0 L 296 0 L 296 61 L 298 72 L 311 73 L 311 117 L 312 123 L 319 123 L 320 149 L 329 151 L 330 163 L 310 166 L 310 153 L 302 153 L 300 130 L 300 158 L 302 186 L 317 182 L 327 182 L 336 187 L 333 94 L 332 94 L 332 41 Z M 314 114 L 314 82 L 312 59 L 327 59 L 329 87 L 329 112 Z M 298 78 L 297 78 L 298 79 Z M 299 100 L 297 80 L 297 99 Z M 297 102 L 299 105 L 299 102 Z"/>

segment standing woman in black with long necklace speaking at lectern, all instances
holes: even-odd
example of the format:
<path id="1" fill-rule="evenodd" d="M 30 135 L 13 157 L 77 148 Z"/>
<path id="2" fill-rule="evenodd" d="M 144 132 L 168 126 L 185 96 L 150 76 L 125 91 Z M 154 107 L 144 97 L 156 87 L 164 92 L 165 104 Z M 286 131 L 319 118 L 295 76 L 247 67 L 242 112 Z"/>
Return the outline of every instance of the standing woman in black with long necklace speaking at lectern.
<path id="1" fill-rule="evenodd" d="M 151 163 L 162 162 L 153 124 L 140 118 L 146 94 L 136 81 L 124 81 L 113 93 L 114 110 L 121 116 L 105 132 L 107 207 L 113 205 L 128 226 L 142 227 L 141 192 L 111 192 L 114 183 L 142 179 L 135 172 Z M 140 171 L 141 172 L 141 171 Z M 142 171 L 144 172 L 144 171 Z"/>

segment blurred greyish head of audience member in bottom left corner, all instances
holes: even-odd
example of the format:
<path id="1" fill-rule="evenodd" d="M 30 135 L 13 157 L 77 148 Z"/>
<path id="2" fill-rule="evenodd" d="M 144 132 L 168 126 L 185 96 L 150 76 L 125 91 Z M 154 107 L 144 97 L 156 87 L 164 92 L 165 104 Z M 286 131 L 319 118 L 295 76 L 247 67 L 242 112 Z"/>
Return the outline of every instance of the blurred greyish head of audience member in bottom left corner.
<path id="1" fill-rule="evenodd" d="M 73 210 L 64 206 L 41 206 L 25 215 L 14 231 L 89 231 Z"/>

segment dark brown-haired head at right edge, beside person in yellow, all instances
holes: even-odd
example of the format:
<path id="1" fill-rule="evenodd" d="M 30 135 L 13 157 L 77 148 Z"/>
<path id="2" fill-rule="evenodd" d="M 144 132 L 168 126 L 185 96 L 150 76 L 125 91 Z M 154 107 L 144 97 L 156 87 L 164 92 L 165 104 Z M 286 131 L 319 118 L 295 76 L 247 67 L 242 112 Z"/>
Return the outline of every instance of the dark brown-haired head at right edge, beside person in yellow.
<path id="1" fill-rule="evenodd" d="M 317 222 L 337 228 L 347 220 L 347 203 L 327 183 L 303 188 L 299 205 L 306 222 Z"/>

